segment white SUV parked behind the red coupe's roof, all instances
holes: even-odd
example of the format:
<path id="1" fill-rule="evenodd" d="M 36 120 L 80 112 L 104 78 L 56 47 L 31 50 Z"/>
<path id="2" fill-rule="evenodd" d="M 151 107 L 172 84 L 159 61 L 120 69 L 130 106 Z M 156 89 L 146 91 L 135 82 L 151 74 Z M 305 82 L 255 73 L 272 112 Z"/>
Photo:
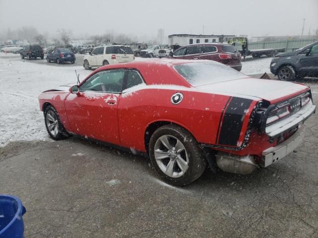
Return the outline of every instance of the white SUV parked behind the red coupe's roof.
<path id="1" fill-rule="evenodd" d="M 113 63 L 126 63 L 135 60 L 134 52 L 129 46 L 107 45 L 96 47 L 92 53 L 84 56 L 84 68 L 99 67 Z"/>

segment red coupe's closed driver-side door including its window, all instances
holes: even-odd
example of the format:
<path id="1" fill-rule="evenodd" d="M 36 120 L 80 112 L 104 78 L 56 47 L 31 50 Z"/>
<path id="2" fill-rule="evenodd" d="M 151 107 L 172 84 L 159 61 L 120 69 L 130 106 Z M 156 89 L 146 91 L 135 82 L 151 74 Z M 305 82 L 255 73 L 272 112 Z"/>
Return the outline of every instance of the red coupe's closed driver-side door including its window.
<path id="1" fill-rule="evenodd" d="M 117 108 L 122 92 L 124 69 L 99 71 L 70 94 L 65 108 L 72 131 L 76 134 L 120 144 Z"/>

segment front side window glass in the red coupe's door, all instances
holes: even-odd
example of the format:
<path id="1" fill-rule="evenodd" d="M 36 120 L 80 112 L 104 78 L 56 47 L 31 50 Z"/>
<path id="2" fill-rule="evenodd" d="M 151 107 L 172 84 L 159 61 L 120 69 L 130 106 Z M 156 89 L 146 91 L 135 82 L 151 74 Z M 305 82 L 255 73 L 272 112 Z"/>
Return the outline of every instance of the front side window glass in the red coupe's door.
<path id="1" fill-rule="evenodd" d="M 97 72 L 80 85 L 79 91 L 121 93 L 124 74 L 124 69 Z"/>

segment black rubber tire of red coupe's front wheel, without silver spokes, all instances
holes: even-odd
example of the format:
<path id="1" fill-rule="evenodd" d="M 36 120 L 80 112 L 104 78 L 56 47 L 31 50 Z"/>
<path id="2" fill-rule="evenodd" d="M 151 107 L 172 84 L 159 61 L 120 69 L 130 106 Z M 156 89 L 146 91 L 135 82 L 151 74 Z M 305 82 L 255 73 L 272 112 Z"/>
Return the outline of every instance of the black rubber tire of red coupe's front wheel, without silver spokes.
<path id="1" fill-rule="evenodd" d="M 54 130 L 52 132 L 49 129 L 49 126 L 51 126 L 51 124 L 48 124 L 48 122 L 47 122 L 48 120 L 50 120 L 50 119 L 47 119 L 49 117 L 48 114 L 51 115 L 51 116 L 52 115 L 55 116 L 55 119 L 56 119 L 55 123 L 56 123 L 56 125 L 58 125 L 56 134 L 54 134 Z M 52 120 L 52 122 L 53 122 L 53 120 Z M 65 130 L 65 128 L 64 128 L 64 126 L 63 126 L 63 124 L 61 122 L 61 119 L 59 117 L 58 112 L 55 110 L 54 107 L 48 106 L 44 110 L 44 123 L 45 123 L 46 130 L 48 131 L 50 137 L 53 140 L 62 140 L 62 139 L 65 139 L 65 138 L 67 138 L 69 136 L 69 134 L 67 133 L 67 131 Z M 56 127 L 54 127 L 54 128 L 56 128 Z"/>

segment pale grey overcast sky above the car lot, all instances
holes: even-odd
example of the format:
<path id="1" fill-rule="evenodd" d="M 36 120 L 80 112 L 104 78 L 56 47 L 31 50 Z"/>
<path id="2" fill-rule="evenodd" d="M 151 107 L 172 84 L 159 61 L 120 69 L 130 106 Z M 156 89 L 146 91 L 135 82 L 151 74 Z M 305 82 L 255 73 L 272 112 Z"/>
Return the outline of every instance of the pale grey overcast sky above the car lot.
<path id="1" fill-rule="evenodd" d="M 169 34 L 300 35 L 318 28 L 318 0 L 0 0 L 0 29 L 36 27 L 54 35 L 107 31 Z"/>

